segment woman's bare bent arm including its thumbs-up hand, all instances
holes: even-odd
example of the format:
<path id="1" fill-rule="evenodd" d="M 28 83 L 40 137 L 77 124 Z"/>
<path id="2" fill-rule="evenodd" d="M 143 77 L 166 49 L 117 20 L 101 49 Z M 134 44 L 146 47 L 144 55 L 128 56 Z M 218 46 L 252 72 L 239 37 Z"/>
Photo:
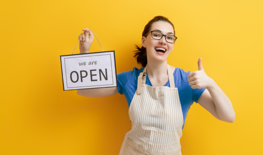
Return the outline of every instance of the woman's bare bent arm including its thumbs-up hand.
<path id="1" fill-rule="evenodd" d="M 198 60 L 198 71 L 188 74 L 188 78 L 191 88 L 207 89 L 197 101 L 201 106 L 219 120 L 234 122 L 236 114 L 232 103 L 213 79 L 206 74 L 202 65 L 202 58 Z"/>

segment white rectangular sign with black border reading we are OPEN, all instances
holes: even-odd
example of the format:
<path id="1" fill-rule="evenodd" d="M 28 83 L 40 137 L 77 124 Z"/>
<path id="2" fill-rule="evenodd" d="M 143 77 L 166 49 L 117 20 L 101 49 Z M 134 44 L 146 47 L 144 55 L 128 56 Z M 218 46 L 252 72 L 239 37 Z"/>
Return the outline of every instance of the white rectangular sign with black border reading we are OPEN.
<path id="1" fill-rule="evenodd" d="M 61 55 L 63 89 L 117 87 L 115 52 Z"/>

